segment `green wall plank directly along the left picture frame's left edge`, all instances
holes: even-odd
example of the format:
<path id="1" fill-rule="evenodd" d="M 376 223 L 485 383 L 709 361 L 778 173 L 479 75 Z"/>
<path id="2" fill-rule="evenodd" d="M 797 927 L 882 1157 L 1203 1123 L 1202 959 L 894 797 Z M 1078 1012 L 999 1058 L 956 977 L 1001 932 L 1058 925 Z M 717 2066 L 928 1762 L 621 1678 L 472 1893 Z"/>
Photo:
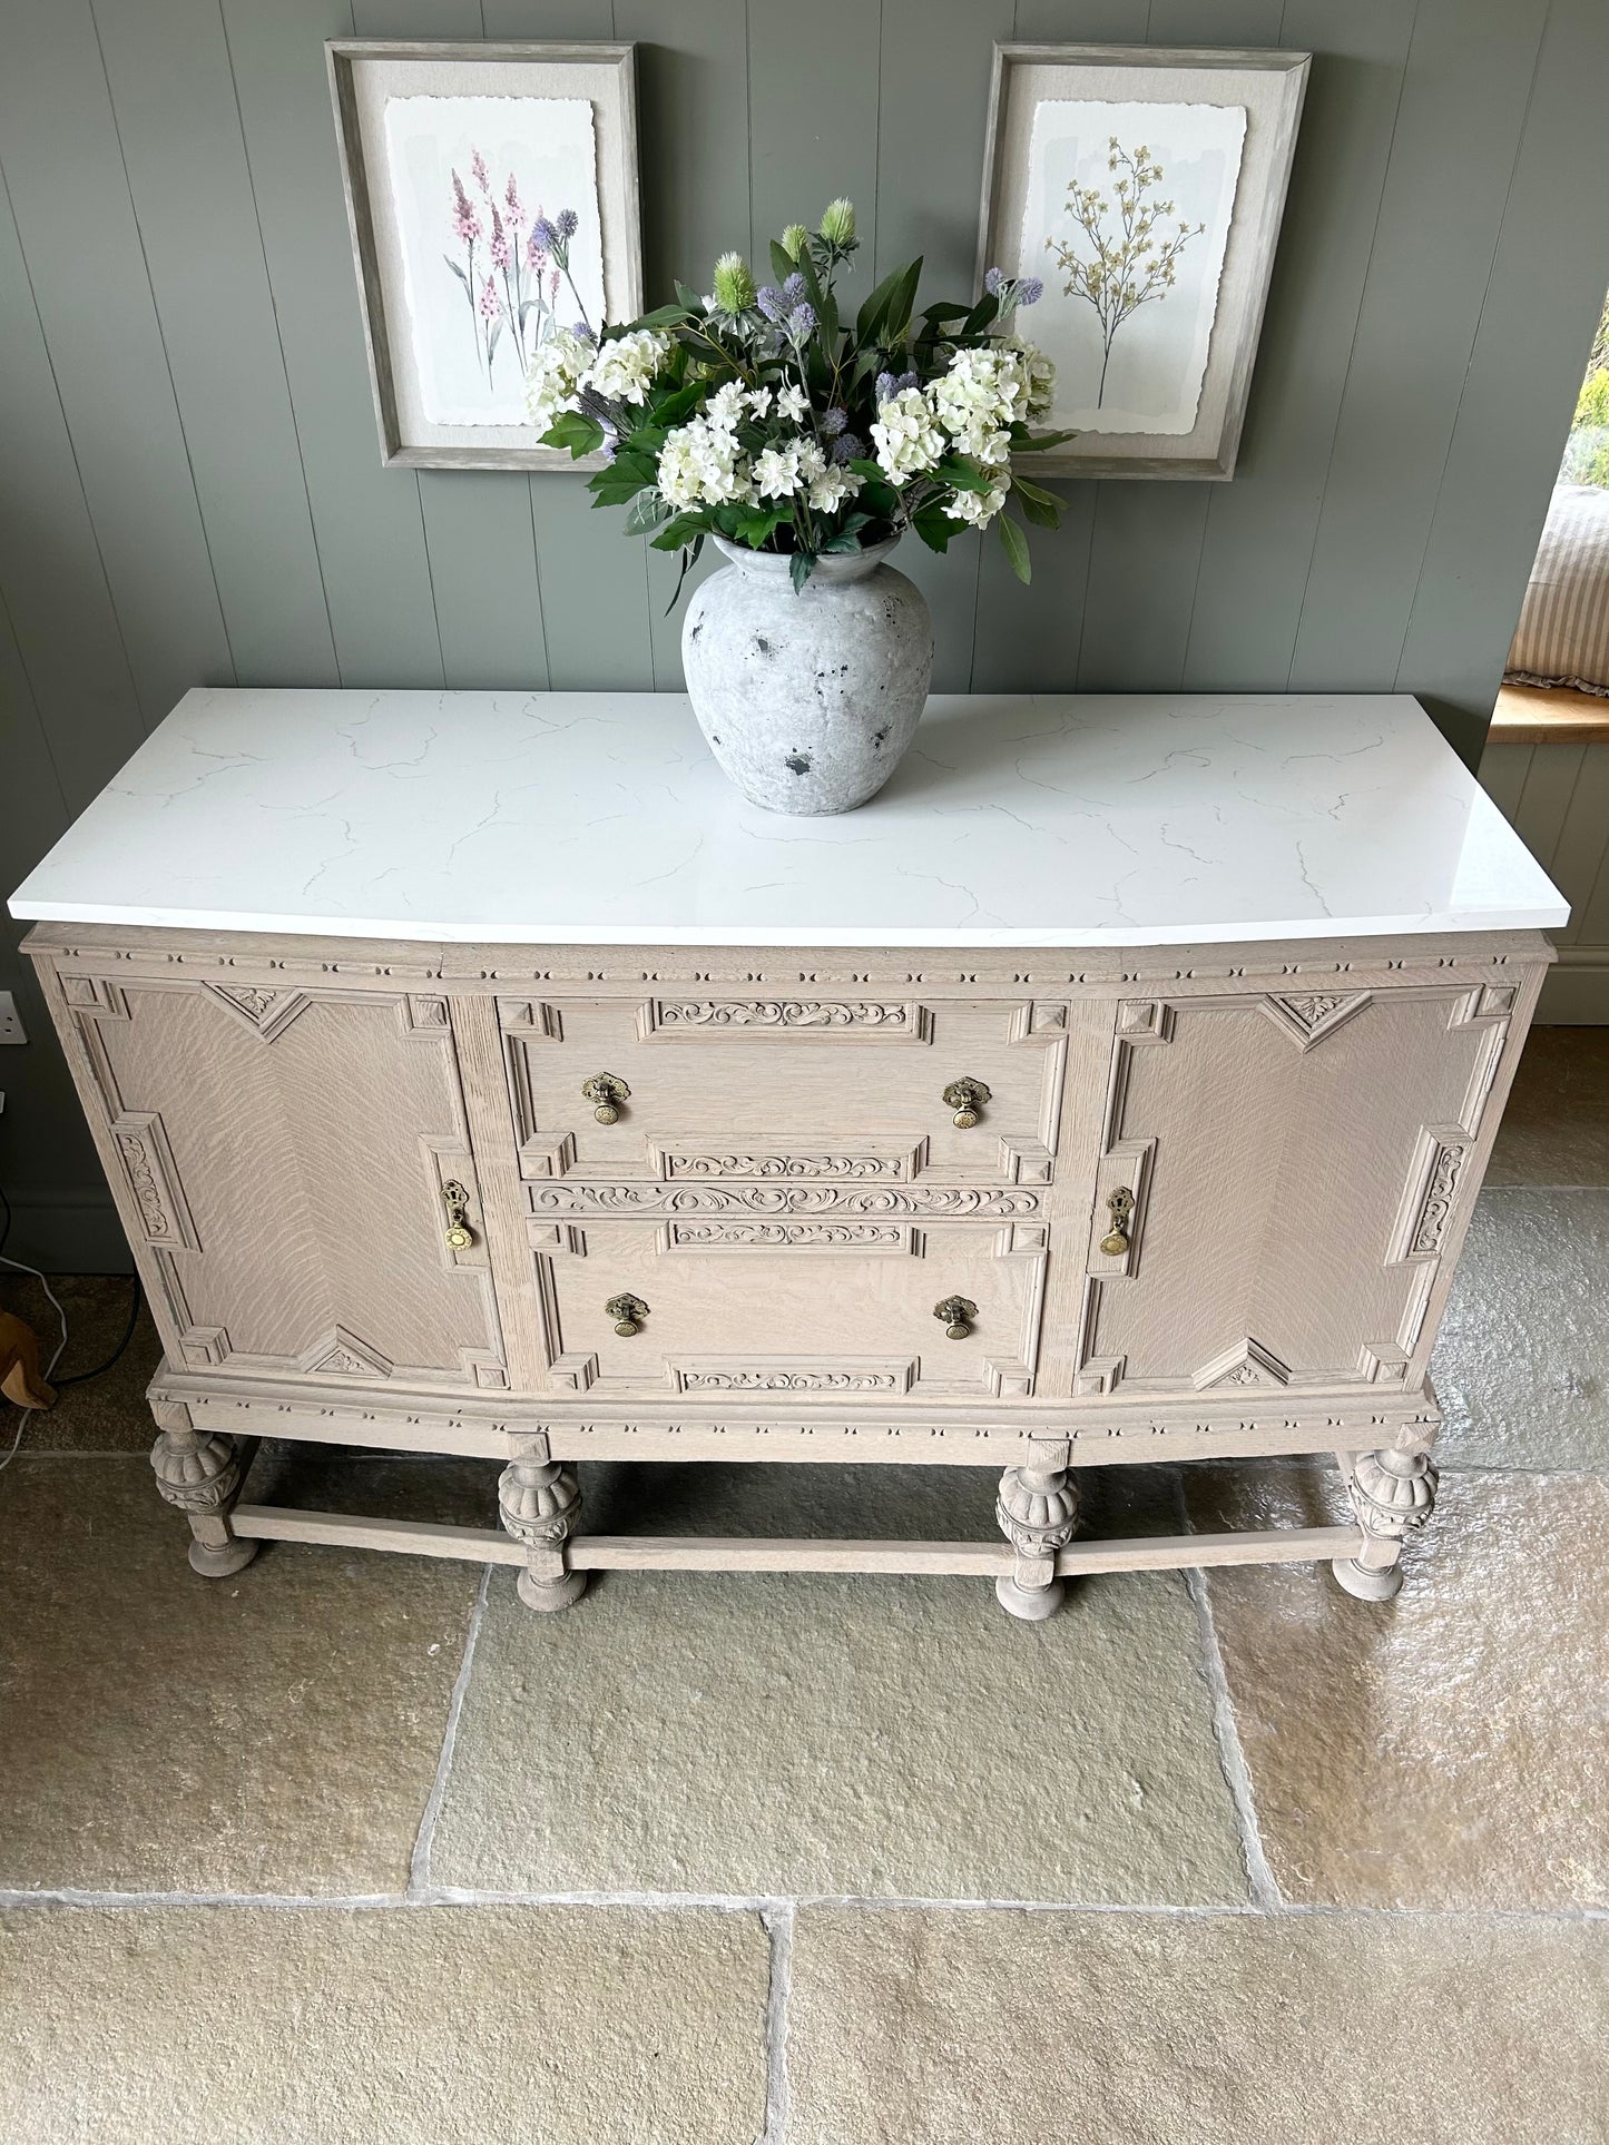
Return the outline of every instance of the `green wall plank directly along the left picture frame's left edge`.
<path id="1" fill-rule="evenodd" d="M 223 0 L 247 163 L 345 684 L 442 684 L 410 470 L 384 470 L 341 202 L 324 39 L 345 0 Z"/>

